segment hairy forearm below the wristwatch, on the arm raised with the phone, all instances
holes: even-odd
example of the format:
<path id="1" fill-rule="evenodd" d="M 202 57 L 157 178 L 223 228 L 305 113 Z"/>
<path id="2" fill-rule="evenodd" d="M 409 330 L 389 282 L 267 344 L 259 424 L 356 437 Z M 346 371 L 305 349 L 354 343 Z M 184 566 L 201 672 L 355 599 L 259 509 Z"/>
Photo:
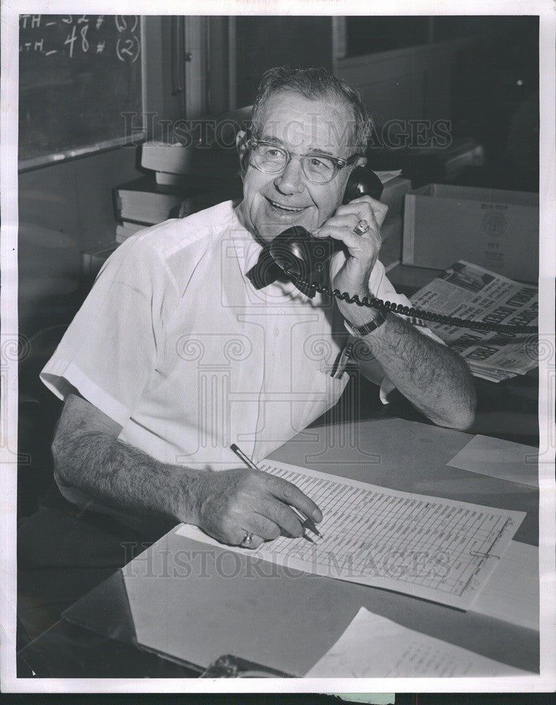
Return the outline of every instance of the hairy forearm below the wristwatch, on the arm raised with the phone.
<path id="1" fill-rule="evenodd" d="M 365 343 L 397 389 L 431 421 L 457 429 L 471 426 L 475 389 L 459 355 L 394 314 Z"/>

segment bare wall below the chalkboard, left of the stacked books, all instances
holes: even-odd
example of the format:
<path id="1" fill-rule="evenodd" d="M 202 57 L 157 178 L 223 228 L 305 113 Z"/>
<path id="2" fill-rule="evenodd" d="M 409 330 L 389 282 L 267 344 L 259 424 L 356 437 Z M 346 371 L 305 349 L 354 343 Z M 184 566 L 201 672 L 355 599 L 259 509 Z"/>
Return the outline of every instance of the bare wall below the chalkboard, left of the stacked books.
<path id="1" fill-rule="evenodd" d="M 136 147 L 19 175 L 20 333 L 68 321 L 80 298 L 81 252 L 113 240 L 111 187 L 139 176 Z"/>

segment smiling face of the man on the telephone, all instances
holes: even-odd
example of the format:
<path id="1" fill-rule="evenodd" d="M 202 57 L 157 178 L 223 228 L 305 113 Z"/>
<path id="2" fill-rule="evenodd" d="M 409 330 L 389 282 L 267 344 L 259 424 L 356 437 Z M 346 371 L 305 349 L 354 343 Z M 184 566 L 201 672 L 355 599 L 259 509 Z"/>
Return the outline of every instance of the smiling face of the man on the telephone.
<path id="1" fill-rule="evenodd" d="M 261 134 L 257 137 L 276 142 L 295 154 L 321 152 L 347 159 L 351 156 L 351 120 L 351 111 L 340 103 L 280 92 L 264 105 Z M 245 133 L 238 135 L 240 155 L 244 155 L 247 164 L 238 214 L 249 231 L 269 243 L 291 226 L 303 226 L 311 232 L 330 218 L 342 202 L 350 166 L 340 169 L 325 184 L 312 183 L 297 157 L 292 157 L 283 171 L 264 173 L 253 166 L 244 138 Z"/>

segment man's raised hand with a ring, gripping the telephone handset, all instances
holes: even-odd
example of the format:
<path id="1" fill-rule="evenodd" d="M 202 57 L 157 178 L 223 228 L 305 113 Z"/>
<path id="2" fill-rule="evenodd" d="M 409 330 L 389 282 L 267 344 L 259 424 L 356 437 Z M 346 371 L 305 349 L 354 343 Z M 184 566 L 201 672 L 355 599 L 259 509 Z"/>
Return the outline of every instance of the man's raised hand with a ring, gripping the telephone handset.
<path id="1" fill-rule="evenodd" d="M 317 238 L 334 238 L 347 247 L 344 252 L 335 252 L 330 262 L 330 280 L 333 288 L 347 291 L 359 298 L 369 295 L 369 277 L 381 250 L 381 226 L 388 212 L 388 206 L 370 196 L 356 198 L 346 205 L 339 206 L 335 214 L 313 233 Z M 362 235 L 354 233 L 359 221 L 369 223 L 369 230 Z M 342 315 L 356 325 L 369 321 L 369 312 L 357 304 L 338 300 Z M 366 320 L 359 320 L 361 314 Z M 354 318 L 355 316 L 355 318 Z"/>

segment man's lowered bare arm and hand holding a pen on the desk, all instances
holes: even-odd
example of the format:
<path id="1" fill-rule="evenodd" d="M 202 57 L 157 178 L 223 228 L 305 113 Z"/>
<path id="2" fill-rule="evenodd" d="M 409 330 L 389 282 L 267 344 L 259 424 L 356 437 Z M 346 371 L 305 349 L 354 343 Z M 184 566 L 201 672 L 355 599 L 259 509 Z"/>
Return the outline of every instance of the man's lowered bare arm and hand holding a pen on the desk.
<path id="1" fill-rule="evenodd" d="M 321 510 L 291 482 L 260 470 L 197 470 L 168 465 L 118 440 L 121 426 L 70 394 L 52 446 L 64 484 L 134 517 L 194 524 L 218 541 L 250 548 L 280 534 L 303 535 L 292 507 L 315 522 Z"/>

